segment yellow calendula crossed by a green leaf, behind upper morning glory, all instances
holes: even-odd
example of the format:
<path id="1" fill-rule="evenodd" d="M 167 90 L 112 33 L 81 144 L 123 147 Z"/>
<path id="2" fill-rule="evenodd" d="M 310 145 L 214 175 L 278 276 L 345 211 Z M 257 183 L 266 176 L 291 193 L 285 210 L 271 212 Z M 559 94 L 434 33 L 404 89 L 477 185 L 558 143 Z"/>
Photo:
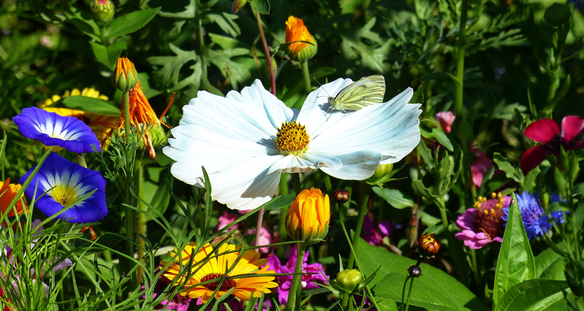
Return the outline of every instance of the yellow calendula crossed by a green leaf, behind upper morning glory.
<path id="1" fill-rule="evenodd" d="M 101 144 L 102 148 L 104 148 L 106 146 L 107 137 L 109 136 L 110 131 L 116 125 L 118 118 L 116 116 L 94 114 L 92 112 L 86 112 L 77 109 L 48 107 L 55 103 L 55 101 L 58 101 L 62 97 L 67 96 L 86 96 L 99 98 L 100 100 L 108 100 L 109 97 L 103 94 L 99 94 L 99 91 L 93 89 L 93 87 L 86 87 L 81 91 L 79 89 L 72 89 L 71 91 L 67 90 L 62 96 L 55 94 L 53 97 L 44 100 L 38 105 L 39 108 L 43 108 L 48 112 L 55 112 L 56 114 L 62 116 L 74 116 L 75 118 L 85 122 L 85 124 L 91 128 L 93 133 L 95 133 L 95 136 L 98 137 L 99 143 Z"/>

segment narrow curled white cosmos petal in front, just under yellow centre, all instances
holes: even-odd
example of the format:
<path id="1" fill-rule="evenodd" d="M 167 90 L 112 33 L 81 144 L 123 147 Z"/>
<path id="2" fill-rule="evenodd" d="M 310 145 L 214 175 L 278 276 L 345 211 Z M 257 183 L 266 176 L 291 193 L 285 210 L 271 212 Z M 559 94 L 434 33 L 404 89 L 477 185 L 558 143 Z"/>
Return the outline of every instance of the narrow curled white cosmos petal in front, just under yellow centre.
<path id="1" fill-rule="evenodd" d="M 275 172 L 299 173 L 308 172 L 319 167 L 330 167 L 334 170 L 340 169 L 343 164 L 336 157 L 322 153 L 303 153 L 298 156 L 290 154 L 274 162 L 268 169 L 267 175 Z"/>

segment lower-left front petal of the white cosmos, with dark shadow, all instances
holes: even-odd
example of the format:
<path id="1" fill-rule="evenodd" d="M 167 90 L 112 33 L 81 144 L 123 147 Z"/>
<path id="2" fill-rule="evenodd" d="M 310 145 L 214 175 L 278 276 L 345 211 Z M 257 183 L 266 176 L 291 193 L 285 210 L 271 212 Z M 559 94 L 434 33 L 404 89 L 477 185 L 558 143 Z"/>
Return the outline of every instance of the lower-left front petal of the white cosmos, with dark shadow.
<path id="1" fill-rule="evenodd" d="M 280 183 L 280 174 L 266 176 L 267 169 L 281 157 L 255 158 L 208 172 L 211 197 L 234 210 L 249 210 L 268 202 Z M 204 186 L 202 177 L 197 182 Z"/>

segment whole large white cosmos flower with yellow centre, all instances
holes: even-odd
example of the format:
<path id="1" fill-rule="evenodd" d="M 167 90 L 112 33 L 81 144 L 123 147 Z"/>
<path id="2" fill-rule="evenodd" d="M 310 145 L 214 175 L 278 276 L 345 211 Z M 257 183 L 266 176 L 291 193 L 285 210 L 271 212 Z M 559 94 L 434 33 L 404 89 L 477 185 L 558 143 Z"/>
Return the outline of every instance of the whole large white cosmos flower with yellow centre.
<path id="1" fill-rule="evenodd" d="M 422 111 L 420 104 L 408 104 L 413 94 L 408 88 L 387 103 L 327 112 L 326 96 L 350 83 L 338 79 L 312 91 L 300 112 L 259 80 L 225 98 L 199 91 L 164 148 L 176 161 L 172 175 L 203 187 L 204 166 L 213 199 L 235 210 L 268 202 L 281 172 L 319 168 L 339 179 L 369 178 L 380 163 L 397 162 L 418 144 Z"/>

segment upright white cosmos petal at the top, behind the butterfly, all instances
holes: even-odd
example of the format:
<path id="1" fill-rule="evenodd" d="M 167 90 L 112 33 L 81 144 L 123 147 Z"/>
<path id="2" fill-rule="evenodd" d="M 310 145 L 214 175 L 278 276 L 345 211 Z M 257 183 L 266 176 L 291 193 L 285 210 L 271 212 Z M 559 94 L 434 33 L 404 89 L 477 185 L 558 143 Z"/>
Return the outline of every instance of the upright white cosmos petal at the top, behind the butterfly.
<path id="1" fill-rule="evenodd" d="M 351 83 L 353 83 L 351 79 L 339 78 L 308 94 L 298 114 L 298 122 L 306 125 L 306 131 L 311 138 L 319 135 L 322 130 L 349 115 L 332 109 L 331 105 L 328 104 L 328 97 L 336 96 L 340 90 Z"/>

